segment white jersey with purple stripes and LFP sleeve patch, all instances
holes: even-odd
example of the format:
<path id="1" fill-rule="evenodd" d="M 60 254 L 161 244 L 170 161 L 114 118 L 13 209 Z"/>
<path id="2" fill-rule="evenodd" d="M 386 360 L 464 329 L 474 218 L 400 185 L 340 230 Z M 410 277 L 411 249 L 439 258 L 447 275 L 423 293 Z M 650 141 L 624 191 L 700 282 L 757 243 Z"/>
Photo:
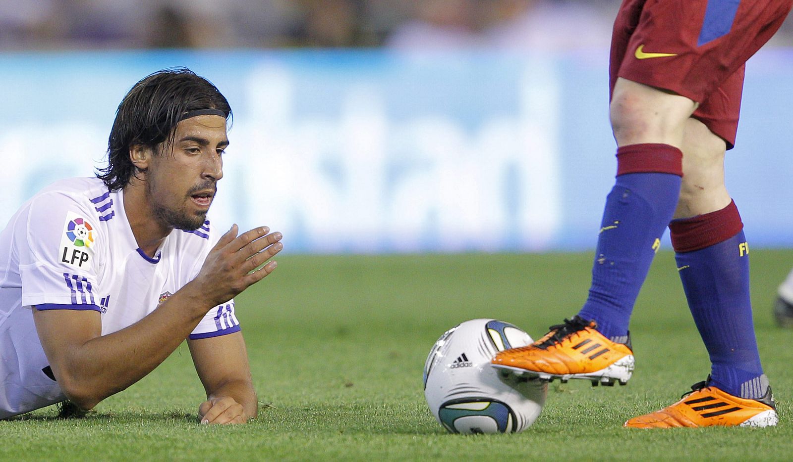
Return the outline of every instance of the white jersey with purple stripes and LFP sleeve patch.
<path id="1" fill-rule="evenodd" d="M 102 335 L 128 327 L 193 280 L 220 234 L 205 222 L 174 229 L 154 258 L 138 248 L 122 191 L 98 178 L 46 187 L 0 233 L 0 418 L 66 397 L 41 347 L 32 306 L 93 309 Z M 234 301 L 209 310 L 190 334 L 204 339 L 239 331 Z"/>

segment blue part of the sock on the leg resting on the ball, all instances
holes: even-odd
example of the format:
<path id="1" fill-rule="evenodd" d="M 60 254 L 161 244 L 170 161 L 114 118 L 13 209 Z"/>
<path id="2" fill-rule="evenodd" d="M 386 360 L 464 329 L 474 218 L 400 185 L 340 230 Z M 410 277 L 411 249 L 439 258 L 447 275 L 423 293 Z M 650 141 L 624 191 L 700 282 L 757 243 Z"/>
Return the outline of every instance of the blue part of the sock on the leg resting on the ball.
<path id="1" fill-rule="evenodd" d="M 592 286 L 578 315 L 595 320 L 597 330 L 616 342 L 627 339 L 630 313 L 674 214 L 680 182 L 673 173 L 621 175 L 606 199 Z"/>

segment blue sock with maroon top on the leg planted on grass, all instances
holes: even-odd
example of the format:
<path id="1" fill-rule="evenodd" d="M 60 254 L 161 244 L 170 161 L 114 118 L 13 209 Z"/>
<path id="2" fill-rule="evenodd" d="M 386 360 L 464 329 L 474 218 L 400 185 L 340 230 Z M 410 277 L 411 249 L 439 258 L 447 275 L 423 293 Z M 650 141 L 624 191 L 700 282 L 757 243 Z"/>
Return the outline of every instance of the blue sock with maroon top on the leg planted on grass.
<path id="1" fill-rule="evenodd" d="M 675 220 L 669 227 L 688 306 L 711 357 L 711 384 L 731 395 L 761 398 L 768 379 L 757 352 L 749 247 L 737 208 L 730 203 L 711 214 Z"/>

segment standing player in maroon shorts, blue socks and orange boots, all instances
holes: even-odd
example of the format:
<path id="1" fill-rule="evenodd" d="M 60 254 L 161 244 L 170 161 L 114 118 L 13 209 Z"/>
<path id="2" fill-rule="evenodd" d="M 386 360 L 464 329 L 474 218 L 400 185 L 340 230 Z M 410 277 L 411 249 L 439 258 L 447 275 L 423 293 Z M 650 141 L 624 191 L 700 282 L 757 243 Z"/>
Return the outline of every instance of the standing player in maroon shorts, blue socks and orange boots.
<path id="1" fill-rule="evenodd" d="M 749 246 L 724 184 L 724 157 L 735 143 L 745 62 L 791 4 L 623 1 L 610 66 L 617 179 L 588 299 L 572 320 L 531 346 L 501 352 L 494 366 L 543 380 L 625 384 L 634 370 L 628 321 L 668 226 L 711 375 L 625 426 L 776 425 L 754 335 Z"/>

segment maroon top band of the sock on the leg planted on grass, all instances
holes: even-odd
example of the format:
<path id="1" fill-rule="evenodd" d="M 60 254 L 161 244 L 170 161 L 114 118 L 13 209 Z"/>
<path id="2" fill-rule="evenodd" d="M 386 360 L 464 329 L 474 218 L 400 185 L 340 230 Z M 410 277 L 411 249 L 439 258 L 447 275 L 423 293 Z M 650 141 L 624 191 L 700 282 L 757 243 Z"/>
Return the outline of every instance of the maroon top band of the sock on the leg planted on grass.
<path id="1" fill-rule="evenodd" d="M 694 252 L 718 244 L 735 236 L 741 229 L 743 222 L 735 201 L 722 210 L 669 223 L 672 248 L 679 253 Z"/>

